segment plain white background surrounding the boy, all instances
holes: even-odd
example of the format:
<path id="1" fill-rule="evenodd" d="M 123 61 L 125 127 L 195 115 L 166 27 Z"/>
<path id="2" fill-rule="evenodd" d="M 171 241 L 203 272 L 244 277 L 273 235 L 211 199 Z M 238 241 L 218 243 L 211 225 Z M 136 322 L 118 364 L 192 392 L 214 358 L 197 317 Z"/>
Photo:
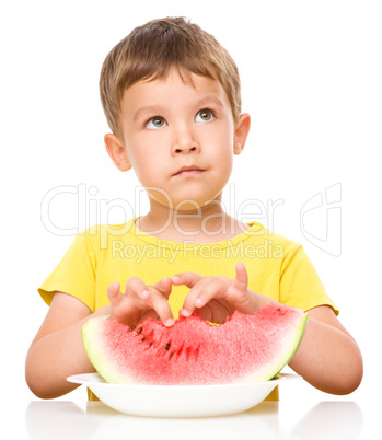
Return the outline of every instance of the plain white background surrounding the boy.
<path id="1" fill-rule="evenodd" d="M 144 199 L 135 202 L 139 183 L 132 172 L 119 173 L 105 152 L 108 127 L 97 82 L 117 42 L 135 26 L 166 15 L 185 15 L 213 34 L 241 71 L 252 131 L 235 158 L 235 196 L 225 194 L 231 213 L 255 199 L 246 213 L 252 210 L 255 220 L 303 244 L 364 358 L 361 387 L 340 398 L 380 396 L 381 3 L 36 0 L 0 7 L 7 398 L 12 404 L 35 398 L 24 382 L 24 359 L 47 312 L 37 287 L 73 240 L 63 230 L 125 221 L 118 198 L 131 206 L 127 218 L 147 209 Z M 306 213 L 301 228 L 304 205 L 334 185 L 337 201 L 329 220 L 323 207 Z M 72 194 L 49 206 L 50 225 L 62 229 L 58 234 L 43 224 L 42 201 L 60 186 Z M 79 188 L 88 192 L 86 199 L 81 193 L 80 208 L 73 194 Z M 282 201 L 274 220 L 261 210 L 269 200 Z M 283 396 L 332 398 L 303 382 Z M 85 392 L 65 398 L 82 401 Z"/>

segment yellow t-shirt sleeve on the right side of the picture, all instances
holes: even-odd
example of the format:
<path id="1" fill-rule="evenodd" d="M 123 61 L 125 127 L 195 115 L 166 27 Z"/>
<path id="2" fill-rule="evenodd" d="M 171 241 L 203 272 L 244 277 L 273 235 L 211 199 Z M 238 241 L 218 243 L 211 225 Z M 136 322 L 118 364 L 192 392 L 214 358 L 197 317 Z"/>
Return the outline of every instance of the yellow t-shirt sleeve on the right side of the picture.
<path id="1" fill-rule="evenodd" d="M 319 305 L 329 305 L 338 315 L 338 309 L 326 290 L 301 245 L 287 253 L 280 274 L 280 302 L 303 311 Z"/>

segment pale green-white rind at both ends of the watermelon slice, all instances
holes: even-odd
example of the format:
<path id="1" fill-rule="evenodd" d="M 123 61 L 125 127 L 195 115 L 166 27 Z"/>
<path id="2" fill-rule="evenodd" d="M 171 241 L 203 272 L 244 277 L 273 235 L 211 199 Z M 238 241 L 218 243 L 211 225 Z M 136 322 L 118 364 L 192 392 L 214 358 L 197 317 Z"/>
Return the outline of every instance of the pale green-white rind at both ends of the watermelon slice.
<path id="1" fill-rule="evenodd" d="M 285 354 L 280 355 L 277 363 L 274 363 L 273 367 L 267 364 L 264 372 L 257 370 L 254 371 L 253 374 L 245 377 L 243 380 L 236 379 L 234 381 L 230 381 L 229 383 L 266 382 L 275 378 L 282 370 L 282 368 L 290 362 L 298 350 L 306 328 L 308 317 L 308 313 L 303 313 L 301 315 L 300 322 L 293 332 L 294 337 L 290 337 L 289 344 L 285 348 Z M 108 316 L 90 319 L 82 326 L 83 346 L 89 359 L 91 360 L 91 363 L 106 382 L 127 384 L 128 382 L 126 381 L 126 375 L 123 375 L 118 372 L 118 367 L 115 364 L 115 362 L 105 356 L 104 345 L 102 343 L 100 344 L 100 340 L 103 338 L 104 325 L 107 325 L 108 320 Z M 136 384 L 136 382 L 132 380 L 130 383 Z"/>

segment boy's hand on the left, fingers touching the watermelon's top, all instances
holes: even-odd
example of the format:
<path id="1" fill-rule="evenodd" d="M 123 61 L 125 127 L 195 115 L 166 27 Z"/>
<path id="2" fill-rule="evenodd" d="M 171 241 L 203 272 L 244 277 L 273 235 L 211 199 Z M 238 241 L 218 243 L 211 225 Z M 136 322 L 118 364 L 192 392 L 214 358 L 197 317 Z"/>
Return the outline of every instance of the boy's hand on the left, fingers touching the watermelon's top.
<path id="1" fill-rule="evenodd" d="M 175 323 L 167 302 L 171 289 L 171 278 L 163 278 L 154 286 L 146 286 L 140 278 L 132 277 L 126 282 L 125 293 L 121 293 L 119 282 L 113 282 L 107 288 L 111 319 L 135 326 L 151 316 L 171 326 Z"/>

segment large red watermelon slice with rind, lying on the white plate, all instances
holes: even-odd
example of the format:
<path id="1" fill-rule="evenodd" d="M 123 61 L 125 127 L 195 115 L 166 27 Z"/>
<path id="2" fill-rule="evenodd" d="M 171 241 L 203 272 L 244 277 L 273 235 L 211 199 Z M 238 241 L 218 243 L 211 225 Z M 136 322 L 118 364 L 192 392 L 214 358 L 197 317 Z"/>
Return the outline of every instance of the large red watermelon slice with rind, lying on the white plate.
<path id="1" fill-rule="evenodd" d="M 137 327 L 106 316 L 82 328 L 88 356 L 109 383 L 224 384 L 267 381 L 289 362 L 308 314 L 269 304 L 254 314 L 233 313 L 211 325 L 196 314 L 172 327 L 147 319 Z"/>

